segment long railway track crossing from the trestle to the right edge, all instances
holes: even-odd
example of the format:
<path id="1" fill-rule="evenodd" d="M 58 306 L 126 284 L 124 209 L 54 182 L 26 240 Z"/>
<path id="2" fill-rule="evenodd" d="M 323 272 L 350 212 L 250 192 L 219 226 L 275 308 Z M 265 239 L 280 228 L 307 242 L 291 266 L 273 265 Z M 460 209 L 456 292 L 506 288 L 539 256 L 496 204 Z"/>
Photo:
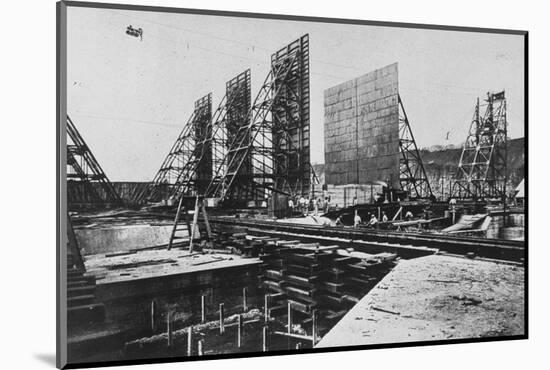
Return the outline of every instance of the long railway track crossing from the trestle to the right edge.
<path id="1" fill-rule="evenodd" d="M 209 217 L 214 225 L 244 227 L 260 233 L 289 234 L 309 239 L 340 239 L 350 244 L 375 249 L 393 249 L 394 252 L 414 255 L 414 250 L 430 248 L 442 252 L 471 255 L 503 261 L 524 262 L 526 247 L 523 241 L 465 238 L 428 233 L 403 233 L 373 229 L 353 229 L 320 225 L 299 225 L 266 220 Z"/>

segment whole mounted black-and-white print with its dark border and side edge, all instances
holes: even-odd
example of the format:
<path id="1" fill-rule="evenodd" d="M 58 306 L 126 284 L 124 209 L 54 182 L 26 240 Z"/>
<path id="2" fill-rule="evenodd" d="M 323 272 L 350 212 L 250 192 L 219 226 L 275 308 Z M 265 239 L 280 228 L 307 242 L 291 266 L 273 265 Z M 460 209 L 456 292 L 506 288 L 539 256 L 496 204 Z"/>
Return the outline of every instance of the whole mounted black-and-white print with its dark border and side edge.
<path id="1" fill-rule="evenodd" d="M 57 23 L 58 366 L 527 338 L 527 31 Z"/>

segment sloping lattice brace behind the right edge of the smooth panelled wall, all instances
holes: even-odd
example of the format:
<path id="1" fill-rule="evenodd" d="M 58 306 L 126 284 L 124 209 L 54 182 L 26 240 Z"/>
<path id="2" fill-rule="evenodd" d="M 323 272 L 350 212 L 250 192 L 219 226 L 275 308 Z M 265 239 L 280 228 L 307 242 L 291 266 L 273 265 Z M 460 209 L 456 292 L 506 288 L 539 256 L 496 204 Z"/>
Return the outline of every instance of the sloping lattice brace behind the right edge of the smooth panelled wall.
<path id="1" fill-rule="evenodd" d="M 416 146 L 416 141 L 409 124 L 409 119 L 399 99 L 399 183 L 413 199 L 432 197 L 432 189 L 428 176 Z"/>

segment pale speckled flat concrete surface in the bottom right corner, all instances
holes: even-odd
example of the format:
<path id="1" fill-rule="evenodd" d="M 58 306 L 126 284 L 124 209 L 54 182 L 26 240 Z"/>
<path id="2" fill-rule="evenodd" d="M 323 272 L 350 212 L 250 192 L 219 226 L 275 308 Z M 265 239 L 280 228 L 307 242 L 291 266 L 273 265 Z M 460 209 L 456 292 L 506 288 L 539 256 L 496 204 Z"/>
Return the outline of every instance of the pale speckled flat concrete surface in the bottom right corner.
<path id="1" fill-rule="evenodd" d="M 401 261 L 316 347 L 524 333 L 522 267 L 434 255 Z"/>

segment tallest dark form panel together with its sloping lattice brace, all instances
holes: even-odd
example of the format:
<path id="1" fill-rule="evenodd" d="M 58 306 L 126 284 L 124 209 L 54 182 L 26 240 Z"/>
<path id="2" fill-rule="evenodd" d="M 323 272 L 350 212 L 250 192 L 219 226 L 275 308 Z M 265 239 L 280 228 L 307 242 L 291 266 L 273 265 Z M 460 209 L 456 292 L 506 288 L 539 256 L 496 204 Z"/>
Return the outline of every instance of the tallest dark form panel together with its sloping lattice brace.
<path id="1" fill-rule="evenodd" d="M 272 55 L 254 103 L 234 128 L 207 197 L 247 201 L 269 191 L 308 193 L 308 35 Z"/>

